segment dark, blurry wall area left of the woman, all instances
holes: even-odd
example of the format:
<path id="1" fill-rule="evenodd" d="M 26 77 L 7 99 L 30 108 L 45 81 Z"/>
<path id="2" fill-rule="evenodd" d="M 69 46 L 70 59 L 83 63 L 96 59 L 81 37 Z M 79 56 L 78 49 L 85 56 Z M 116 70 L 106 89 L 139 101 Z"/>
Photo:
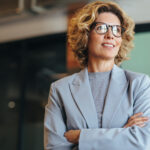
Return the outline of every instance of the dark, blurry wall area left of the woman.
<path id="1" fill-rule="evenodd" d="M 42 150 L 49 86 L 66 72 L 66 35 L 4 43 L 0 53 L 0 149 Z"/>

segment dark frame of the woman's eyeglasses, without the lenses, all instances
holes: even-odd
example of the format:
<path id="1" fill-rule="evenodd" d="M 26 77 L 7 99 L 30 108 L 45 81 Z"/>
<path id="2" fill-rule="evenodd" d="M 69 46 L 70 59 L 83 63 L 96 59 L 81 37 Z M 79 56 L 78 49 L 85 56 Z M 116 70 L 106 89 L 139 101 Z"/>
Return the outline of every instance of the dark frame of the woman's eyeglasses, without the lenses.
<path id="1" fill-rule="evenodd" d="M 96 28 L 95 28 L 97 24 L 104 24 L 104 25 L 106 25 L 107 31 L 106 31 L 105 33 L 98 33 L 97 30 L 96 30 Z M 114 26 L 119 26 L 119 27 L 121 27 L 121 35 L 120 35 L 120 36 L 116 36 L 116 35 L 113 33 L 113 27 L 114 27 Z M 106 34 L 106 33 L 108 32 L 109 28 L 111 28 L 112 34 L 113 34 L 115 37 L 117 37 L 117 38 L 122 37 L 122 34 L 125 32 L 125 28 L 122 27 L 122 26 L 120 26 L 120 25 L 109 25 L 109 24 L 104 23 L 104 22 L 94 22 L 94 23 L 92 24 L 92 28 L 94 28 L 95 31 L 96 31 L 96 33 L 97 33 L 97 34 L 100 34 L 100 35 Z"/>

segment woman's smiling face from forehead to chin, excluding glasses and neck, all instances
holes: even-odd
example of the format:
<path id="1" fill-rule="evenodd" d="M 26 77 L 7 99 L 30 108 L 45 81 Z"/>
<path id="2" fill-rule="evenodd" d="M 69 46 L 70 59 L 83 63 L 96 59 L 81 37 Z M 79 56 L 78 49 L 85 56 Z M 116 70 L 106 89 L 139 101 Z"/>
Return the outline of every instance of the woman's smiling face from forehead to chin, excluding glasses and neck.
<path id="1" fill-rule="evenodd" d="M 108 25 L 120 26 L 119 18 L 111 12 L 101 13 L 95 22 L 103 22 Z M 112 33 L 111 27 L 109 27 L 108 32 L 105 34 L 98 34 L 95 28 L 93 28 L 90 31 L 88 41 L 89 60 L 92 57 L 114 61 L 114 58 L 118 54 L 121 46 L 121 42 L 122 37 L 115 37 Z"/>

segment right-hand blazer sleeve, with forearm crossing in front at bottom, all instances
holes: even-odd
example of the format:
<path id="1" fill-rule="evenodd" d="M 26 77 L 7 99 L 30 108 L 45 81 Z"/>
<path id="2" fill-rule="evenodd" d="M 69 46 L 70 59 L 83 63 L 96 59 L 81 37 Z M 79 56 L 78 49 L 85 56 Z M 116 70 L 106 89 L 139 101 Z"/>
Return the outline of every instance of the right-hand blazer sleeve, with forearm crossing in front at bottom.
<path id="1" fill-rule="evenodd" d="M 150 79 L 137 79 L 133 90 L 134 114 L 143 112 L 150 117 Z M 119 115 L 119 114 L 118 114 Z M 119 116 L 118 116 L 119 117 Z M 82 129 L 79 149 L 83 150 L 150 150 L 150 122 L 140 128 Z"/>

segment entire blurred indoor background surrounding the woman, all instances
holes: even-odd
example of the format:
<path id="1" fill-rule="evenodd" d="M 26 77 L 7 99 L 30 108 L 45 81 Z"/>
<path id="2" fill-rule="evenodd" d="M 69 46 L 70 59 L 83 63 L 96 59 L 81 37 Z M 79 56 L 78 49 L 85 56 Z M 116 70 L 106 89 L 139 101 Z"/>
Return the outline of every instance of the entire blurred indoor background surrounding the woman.
<path id="1" fill-rule="evenodd" d="M 51 82 L 79 65 L 67 45 L 69 19 L 92 0 L 0 0 L 0 149 L 43 150 Z M 122 68 L 150 75 L 150 1 L 114 0 L 136 23 Z"/>

